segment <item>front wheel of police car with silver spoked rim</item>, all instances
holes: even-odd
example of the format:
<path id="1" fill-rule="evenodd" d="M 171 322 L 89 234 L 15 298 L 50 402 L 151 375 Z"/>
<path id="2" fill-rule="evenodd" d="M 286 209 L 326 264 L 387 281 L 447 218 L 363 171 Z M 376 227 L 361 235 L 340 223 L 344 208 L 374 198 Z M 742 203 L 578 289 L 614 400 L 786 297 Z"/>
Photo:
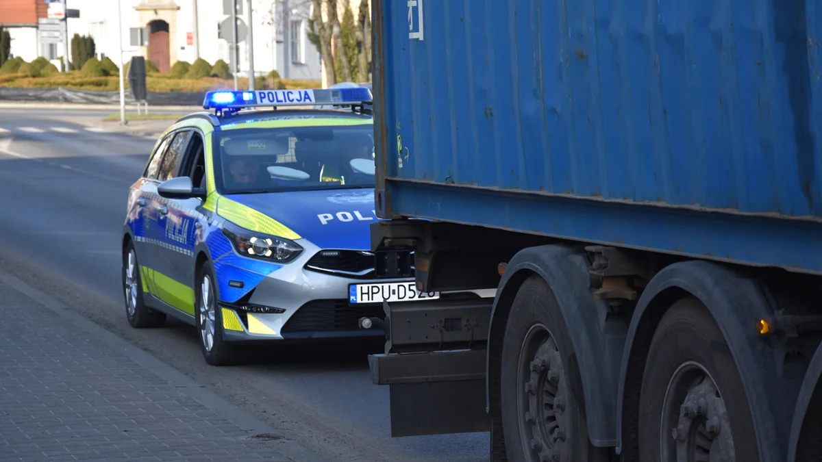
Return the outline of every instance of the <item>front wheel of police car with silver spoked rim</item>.
<path id="1" fill-rule="evenodd" d="M 211 366 L 229 366 L 239 362 L 238 347 L 223 340 L 223 313 L 217 305 L 219 289 L 214 271 L 206 262 L 197 272 L 196 303 L 194 307 L 197 339 Z"/>

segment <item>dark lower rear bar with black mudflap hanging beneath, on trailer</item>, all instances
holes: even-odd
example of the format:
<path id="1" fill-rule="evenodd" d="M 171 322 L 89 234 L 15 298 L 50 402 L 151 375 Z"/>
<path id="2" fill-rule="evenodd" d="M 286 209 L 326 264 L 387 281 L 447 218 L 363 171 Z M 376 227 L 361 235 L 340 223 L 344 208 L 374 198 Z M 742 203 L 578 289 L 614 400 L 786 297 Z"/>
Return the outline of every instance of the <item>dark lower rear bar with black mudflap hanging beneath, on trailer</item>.
<path id="1" fill-rule="evenodd" d="M 489 432 L 485 350 L 372 354 L 372 381 L 388 385 L 391 437 Z"/>

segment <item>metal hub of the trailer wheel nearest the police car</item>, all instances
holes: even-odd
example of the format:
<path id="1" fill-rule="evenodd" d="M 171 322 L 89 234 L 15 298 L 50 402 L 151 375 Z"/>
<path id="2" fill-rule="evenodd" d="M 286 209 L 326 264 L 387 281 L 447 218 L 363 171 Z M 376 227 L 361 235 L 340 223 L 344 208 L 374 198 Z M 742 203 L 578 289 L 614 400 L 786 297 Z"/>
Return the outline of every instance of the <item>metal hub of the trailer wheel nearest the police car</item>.
<path id="1" fill-rule="evenodd" d="M 530 438 L 530 460 L 565 462 L 568 422 L 568 399 L 565 370 L 559 350 L 547 339 L 533 354 L 530 373 L 524 382 L 524 420 L 526 438 Z"/>

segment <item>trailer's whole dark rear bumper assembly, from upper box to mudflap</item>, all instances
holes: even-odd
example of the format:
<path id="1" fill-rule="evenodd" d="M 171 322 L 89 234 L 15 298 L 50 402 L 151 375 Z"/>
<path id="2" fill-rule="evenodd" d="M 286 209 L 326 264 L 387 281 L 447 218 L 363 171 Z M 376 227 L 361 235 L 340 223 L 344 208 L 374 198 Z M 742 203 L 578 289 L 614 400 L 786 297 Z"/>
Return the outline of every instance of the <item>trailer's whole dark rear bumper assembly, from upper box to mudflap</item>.
<path id="1" fill-rule="evenodd" d="M 386 353 L 368 357 L 389 386 L 391 437 L 489 432 L 485 357 L 493 299 L 382 304 Z"/>

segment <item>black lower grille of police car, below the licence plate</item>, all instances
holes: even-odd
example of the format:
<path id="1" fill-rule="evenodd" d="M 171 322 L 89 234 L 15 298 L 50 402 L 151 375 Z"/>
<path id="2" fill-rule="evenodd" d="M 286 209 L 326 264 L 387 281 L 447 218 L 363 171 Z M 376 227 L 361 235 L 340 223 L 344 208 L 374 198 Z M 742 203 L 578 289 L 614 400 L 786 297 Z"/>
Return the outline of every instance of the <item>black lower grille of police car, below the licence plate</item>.
<path id="1" fill-rule="evenodd" d="M 349 305 L 349 301 L 313 300 L 300 307 L 283 326 L 283 334 L 358 330 L 363 316 L 385 319 L 381 303 Z"/>

